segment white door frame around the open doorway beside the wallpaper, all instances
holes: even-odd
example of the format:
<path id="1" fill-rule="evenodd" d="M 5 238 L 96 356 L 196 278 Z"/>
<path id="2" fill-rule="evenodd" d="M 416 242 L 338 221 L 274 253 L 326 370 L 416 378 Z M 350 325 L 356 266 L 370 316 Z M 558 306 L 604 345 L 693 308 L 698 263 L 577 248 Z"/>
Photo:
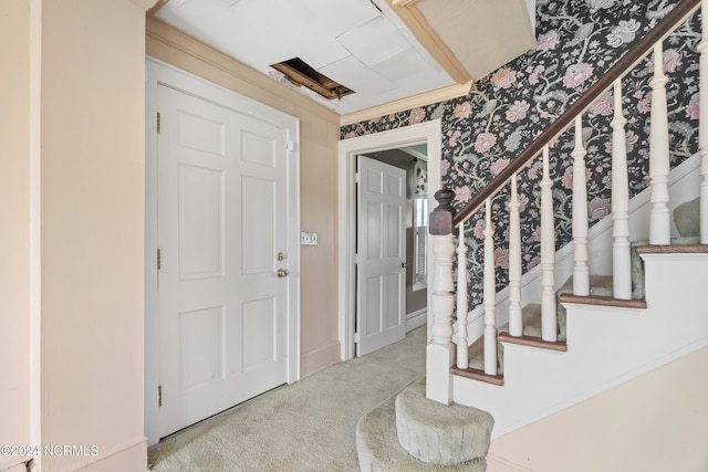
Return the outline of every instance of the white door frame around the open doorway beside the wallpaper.
<path id="1" fill-rule="evenodd" d="M 398 147 L 427 144 L 428 146 L 428 207 L 435 208 L 433 197 L 440 188 L 440 149 L 441 124 L 439 119 L 419 123 L 388 132 L 374 133 L 340 141 L 339 150 L 339 321 L 340 345 L 342 359 L 354 357 L 354 322 L 356 318 L 356 156 L 366 153 L 377 153 Z M 428 247 L 428 306 L 430 306 L 429 290 L 434 259 L 430 258 Z M 430 311 L 428 311 L 428 322 Z"/>

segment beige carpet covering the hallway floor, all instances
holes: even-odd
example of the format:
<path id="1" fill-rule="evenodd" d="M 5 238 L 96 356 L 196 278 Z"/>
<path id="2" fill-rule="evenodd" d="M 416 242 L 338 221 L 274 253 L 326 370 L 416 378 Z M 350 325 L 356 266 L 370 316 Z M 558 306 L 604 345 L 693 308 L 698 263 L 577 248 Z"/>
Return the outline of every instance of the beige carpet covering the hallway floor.
<path id="1" fill-rule="evenodd" d="M 247 401 L 148 450 L 156 472 L 357 471 L 356 422 L 425 373 L 425 327 Z"/>

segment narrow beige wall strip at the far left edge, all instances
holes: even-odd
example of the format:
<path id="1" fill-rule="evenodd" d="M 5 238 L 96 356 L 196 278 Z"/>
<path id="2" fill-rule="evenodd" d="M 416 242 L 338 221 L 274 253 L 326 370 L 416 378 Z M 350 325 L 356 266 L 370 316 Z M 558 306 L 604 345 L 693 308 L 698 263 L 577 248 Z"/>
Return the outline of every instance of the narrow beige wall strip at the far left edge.
<path id="1" fill-rule="evenodd" d="M 0 444 L 30 430 L 30 2 L 0 1 Z M 0 470 L 13 462 L 1 455 Z"/>

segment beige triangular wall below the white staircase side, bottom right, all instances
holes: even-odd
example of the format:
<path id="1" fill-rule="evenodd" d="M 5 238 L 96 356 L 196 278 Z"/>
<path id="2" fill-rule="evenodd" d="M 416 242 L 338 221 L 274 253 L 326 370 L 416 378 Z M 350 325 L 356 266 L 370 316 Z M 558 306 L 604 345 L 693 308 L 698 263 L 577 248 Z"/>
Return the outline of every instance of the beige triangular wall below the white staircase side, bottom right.
<path id="1" fill-rule="evenodd" d="M 702 348 L 506 434 L 491 444 L 488 471 L 706 471 L 706 366 Z"/>

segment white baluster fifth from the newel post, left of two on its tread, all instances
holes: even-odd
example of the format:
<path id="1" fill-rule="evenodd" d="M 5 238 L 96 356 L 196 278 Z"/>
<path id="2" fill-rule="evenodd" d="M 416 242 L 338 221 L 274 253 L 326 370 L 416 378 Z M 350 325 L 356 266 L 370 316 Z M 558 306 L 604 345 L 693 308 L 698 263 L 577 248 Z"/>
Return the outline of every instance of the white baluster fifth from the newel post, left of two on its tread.
<path id="1" fill-rule="evenodd" d="M 587 178 L 583 146 L 583 117 L 575 117 L 575 148 L 573 156 L 573 293 L 590 295 L 587 266 Z"/>

